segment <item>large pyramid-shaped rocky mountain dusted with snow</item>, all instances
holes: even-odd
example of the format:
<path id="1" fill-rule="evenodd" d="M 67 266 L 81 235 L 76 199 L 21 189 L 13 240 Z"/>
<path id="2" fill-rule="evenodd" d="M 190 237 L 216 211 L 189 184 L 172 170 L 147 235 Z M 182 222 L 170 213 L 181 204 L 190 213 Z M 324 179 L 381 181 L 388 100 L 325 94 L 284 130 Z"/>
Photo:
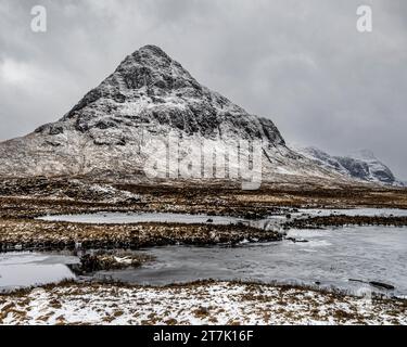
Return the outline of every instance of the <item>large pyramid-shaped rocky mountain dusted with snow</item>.
<path id="1" fill-rule="evenodd" d="M 155 146 L 168 137 L 177 139 L 175 147 L 168 143 L 164 149 Z M 255 168 L 255 157 L 249 152 L 238 163 L 247 159 L 253 172 L 263 175 L 263 180 L 346 181 L 290 150 L 270 119 L 251 115 L 203 87 L 155 46 L 142 47 L 128 55 L 60 120 L 0 143 L 0 176 L 87 176 L 143 181 L 151 180 L 152 176 L 145 175 L 145 165 L 153 157 L 155 163 L 149 167 L 160 171 L 160 178 L 177 178 L 180 165 L 183 174 L 189 170 L 182 177 L 202 178 L 205 170 L 190 169 L 193 162 L 196 166 L 204 155 L 213 155 L 203 147 L 203 143 L 209 143 L 216 159 L 224 156 L 230 164 L 225 177 L 236 179 L 239 175 L 231 166 L 237 163 L 236 155 L 229 156 L 229 150 L 239 146 L 237 141 L 262 141 L 259 168 Z M 165 160 L 169 164 L 163 165 Z M 212 169 L 213 166 L 209 174 Z M 221 172 L 215 171 L 221 178 Z"/>

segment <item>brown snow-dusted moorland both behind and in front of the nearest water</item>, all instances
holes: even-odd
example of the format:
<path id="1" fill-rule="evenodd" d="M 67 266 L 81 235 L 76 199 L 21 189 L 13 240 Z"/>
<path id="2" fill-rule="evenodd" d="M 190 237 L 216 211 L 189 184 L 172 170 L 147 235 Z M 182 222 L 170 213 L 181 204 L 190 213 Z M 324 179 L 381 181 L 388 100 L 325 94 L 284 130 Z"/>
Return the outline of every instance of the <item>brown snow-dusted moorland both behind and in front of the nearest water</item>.
<path id="1" fill-rule="evenodd" d="M 160 211 L 257 219 L 296 208 L 403 208 L 407 190 L 381 187 L 264 187 L 106 184 L 24 179 L 0 183 L 0 248 L 140 248 L 279 241 L 277 231 L 244 224 L 87 224 L 36 217 L 97 211 Z M 289 220 L 285 228 L 346 224 L 406 226 L 406 217 L 322 216 Z M 137 304 L 135 304 L 137 303 Z M 85 305 L 86 304 L 86 305 Z M 85 307 L 84 309 L 77 309 Z M 0 296 L 0 323 L 406 324 L 406 301 L 356 298 L 298 287 L 202 282 L 166 287 L 65 283 Z"/>

